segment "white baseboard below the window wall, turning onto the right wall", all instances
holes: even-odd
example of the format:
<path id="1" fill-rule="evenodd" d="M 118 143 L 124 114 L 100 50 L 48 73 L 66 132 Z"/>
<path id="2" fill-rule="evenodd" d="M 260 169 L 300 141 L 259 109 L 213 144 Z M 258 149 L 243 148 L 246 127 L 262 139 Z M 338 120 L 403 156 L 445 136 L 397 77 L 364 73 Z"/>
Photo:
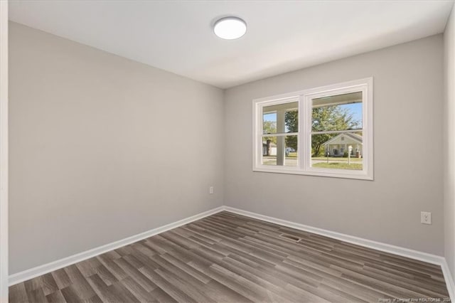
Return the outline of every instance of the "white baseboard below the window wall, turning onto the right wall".
<path id="1" fill-rule="evenodd" d="M 355 237 L 353 235 L 346 235 L 346 234 L 343 234 L 343 233 L 337 233 L 337 232 L 334 232 L 334 231 L 331 231 L 331 230 L 324 230 L 322 228 L 315 228 L 313 226 L 304 225 L 304 224 L 301 224 L 301 223 L 295 223 L 295 222 L 291 222 L 291 221 L 288 221 L 288 220 L 282 220 L 282 219 L 279 219 L 279 218 L 264 216 L 264 215 L 261 215 L 259 213 L 252 213 L 250 211 L 243 211 L 241 209 L 232 208 L 230 206 L 225 206 L 224 210 L 225 211 L 229 211 L 231 213 L 237 213 L 238 215 L 247 216 L 247 217 L 250 217 L 250 218 L 255 218 L 255 219 L 258 219 L 258 220 L 263 220 L 263 221 L 270 222 L 270 223 L 284 225 L 284 226 L 287 226 L 289 228 L 295 228 L 295 229 L 298 229 L 298 230 L 304 230 L 304 231 L 307 231 L 309 233 L 316 233 L 318 235 L 325 235 L 328 238 L 334 238 L 334 239 L 337 239 L 337 240 L 342 240 L 344 242 L 348 242 L 348 243 L 364 246 L 366 248 L 373 248 L 375 250 L 380 250 L 380 251 L 383 251 L 383 252 L 389 252 L 389 253 L 392 253 L 394 255 L 400 255 L 402 257 L 410 257 L 411 259 L 414 259 L 414 260 L 419 260 L 419 261 L 423 261 L 423 262 L 432 263 L 432 264 L 435 264 L 435 265 L 440 265 L 441 266 L 441 270 L 442 270 L 442 272 L 444 274 L 444 280 L 446 281 L 447 290 L 449 291 L 449 294 L 450 294 L 451 302 L 455 302 L 455 284 L 454 284 L 454 280 L 452 279 L 452 276 L 451 276 L 451 273 L 450 273 L 450 270 L 449 270 L 449 266 L 447 265 L 446 259 L 444 257 L 439 256 L 439 255 L 432 255 L 432 254 L 429 254 L 427 252 L 419 252 L 418 250 L 411 250 L 409 248 L 402 248 L 402 247 L 396 246 L 396 245 L 390 245 L 390 244 L 387 244 L 387 243 L 380 243 L 380 242 L 373 241 L 373 240 L 368 240 L 368 239 L 365 239 L 365 238 Z"/>

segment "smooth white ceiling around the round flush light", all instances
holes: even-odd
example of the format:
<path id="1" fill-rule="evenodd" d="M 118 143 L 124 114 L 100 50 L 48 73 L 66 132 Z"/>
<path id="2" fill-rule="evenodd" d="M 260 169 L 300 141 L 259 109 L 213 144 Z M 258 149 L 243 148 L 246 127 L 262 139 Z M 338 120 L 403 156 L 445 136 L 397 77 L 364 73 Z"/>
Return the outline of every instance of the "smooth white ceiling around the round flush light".
<path id="1" fill-rule="evenodd" d="M 20 1 L 10 20 L 226 88 L 444 31 L 453 1 Z M 247 33 L 213 34 L 221 16 Z"/>

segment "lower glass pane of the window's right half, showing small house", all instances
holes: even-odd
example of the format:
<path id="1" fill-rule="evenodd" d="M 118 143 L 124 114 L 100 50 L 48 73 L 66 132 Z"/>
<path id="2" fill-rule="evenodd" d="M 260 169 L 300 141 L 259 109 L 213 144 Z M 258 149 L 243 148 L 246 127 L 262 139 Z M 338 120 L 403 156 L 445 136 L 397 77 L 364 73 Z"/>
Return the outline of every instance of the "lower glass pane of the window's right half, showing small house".
<path id="1" fill-rule="evenodd" d="M 361 171 L 362 132 L 311 135 L 311 167 Z"/>

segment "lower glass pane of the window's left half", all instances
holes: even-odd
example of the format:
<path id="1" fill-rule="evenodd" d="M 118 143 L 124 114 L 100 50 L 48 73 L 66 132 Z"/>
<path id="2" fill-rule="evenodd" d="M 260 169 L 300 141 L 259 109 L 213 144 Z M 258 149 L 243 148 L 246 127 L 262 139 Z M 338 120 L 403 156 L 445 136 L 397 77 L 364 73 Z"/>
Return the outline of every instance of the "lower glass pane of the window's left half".
<path id="1" fill-rule="evenodd" d="M 297 166 L 297 136 L 262 137 L 262 164 Z"/>

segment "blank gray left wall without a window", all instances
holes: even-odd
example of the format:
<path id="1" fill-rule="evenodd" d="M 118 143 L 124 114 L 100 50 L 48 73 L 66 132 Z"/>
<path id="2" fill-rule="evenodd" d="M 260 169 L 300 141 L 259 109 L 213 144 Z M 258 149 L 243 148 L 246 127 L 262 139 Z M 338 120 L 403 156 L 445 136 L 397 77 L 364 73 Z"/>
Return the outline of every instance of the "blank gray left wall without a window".
<path id="1" fill-rule="evenodd" d="M 223 205 L 222 90 L 10 26 L 10 274 Z"/>

